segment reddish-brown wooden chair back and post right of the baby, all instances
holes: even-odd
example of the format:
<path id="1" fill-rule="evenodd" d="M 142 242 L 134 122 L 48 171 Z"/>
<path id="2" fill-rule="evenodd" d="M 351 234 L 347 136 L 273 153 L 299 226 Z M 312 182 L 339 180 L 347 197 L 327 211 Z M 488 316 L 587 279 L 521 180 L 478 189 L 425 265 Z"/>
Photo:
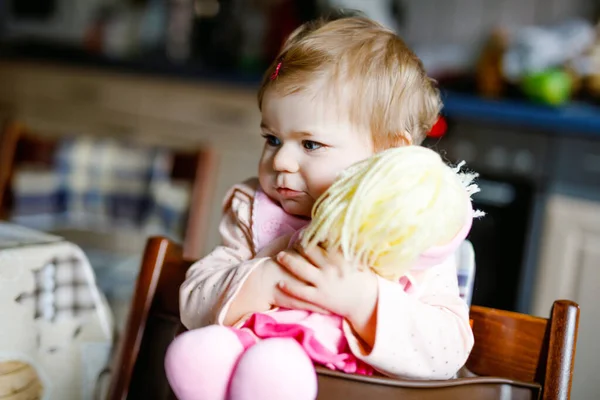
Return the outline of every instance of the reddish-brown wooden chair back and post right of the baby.
<path id="1" fill-rule="evenodd" d="M 543 399 L 568 399 L 579 306 L 555 301 L 550 318 L 472 306 L 475 346 L 467 368 L 483 376 L 538 382 Z"/>

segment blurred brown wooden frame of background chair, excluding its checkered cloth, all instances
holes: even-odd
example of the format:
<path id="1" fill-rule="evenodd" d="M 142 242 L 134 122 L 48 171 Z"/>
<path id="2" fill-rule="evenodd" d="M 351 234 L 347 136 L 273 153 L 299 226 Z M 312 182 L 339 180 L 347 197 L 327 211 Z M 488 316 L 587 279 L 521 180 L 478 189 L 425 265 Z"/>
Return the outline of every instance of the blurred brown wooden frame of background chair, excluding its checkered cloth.
<path id="1" fill-rule="evenodd" d="M 55 168 L 55 156 L 63 138 L 33 133 L 26 126 L 9 121 L 0 133 L 0 218 L 9 218 L 13 206 L 13 177 L 21 165 L 35 164 Z M 174 151 L 170 179 L 191 183 L 191 199 L 185 221 L 184 254 L 199 258 L 206 242 L 208 214 L 216 182 L 217 157 L 213 149 L 203 147 Z M 143 246 L 143 242 L 141 242 Z"/>

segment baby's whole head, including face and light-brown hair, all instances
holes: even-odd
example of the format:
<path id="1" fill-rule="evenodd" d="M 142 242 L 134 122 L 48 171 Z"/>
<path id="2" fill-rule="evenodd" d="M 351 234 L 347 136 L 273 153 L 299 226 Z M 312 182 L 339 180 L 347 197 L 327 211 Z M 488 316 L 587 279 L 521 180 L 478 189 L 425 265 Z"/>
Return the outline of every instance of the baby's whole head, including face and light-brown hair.
<path id="1" fill-rule="evenodd" d="M 306 217 L 348 166 L 421 143 L 440 109 L 434 83 L 404 42 L 357 17 L 315 21 L 292 33 L 258 101 L 266 139 L 261 188 Z"/>

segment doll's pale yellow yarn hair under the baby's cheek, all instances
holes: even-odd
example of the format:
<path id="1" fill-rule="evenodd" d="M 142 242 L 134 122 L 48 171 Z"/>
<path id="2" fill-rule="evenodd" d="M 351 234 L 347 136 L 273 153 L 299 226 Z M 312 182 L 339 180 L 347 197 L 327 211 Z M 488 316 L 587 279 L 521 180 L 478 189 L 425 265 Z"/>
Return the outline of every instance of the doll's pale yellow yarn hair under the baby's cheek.
<path id="1" fill-rule="evenodd" d="M 462 165 L 462 164 L 461 164 Z M 341 248 L 348 260 L 396 281 L 425 250 L 467 221 L 474 174 L 433 150 L 392 148 L 348 168 L 317 200 L 302 246 Z"/>

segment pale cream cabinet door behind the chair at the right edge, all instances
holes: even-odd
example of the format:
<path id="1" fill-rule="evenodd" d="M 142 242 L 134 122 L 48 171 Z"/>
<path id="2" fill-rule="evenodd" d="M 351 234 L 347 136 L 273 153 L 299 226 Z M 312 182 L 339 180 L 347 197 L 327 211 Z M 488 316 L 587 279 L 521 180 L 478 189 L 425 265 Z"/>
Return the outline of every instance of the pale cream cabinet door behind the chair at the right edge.
<path id="1" fill-rule="evenodd" d="M 600 393 L 600 204 L 562 195 L 546 207 L 534 293 L 534 313 L 548 315 L 555 299 L 581 307 L 573 399 Z"/>

